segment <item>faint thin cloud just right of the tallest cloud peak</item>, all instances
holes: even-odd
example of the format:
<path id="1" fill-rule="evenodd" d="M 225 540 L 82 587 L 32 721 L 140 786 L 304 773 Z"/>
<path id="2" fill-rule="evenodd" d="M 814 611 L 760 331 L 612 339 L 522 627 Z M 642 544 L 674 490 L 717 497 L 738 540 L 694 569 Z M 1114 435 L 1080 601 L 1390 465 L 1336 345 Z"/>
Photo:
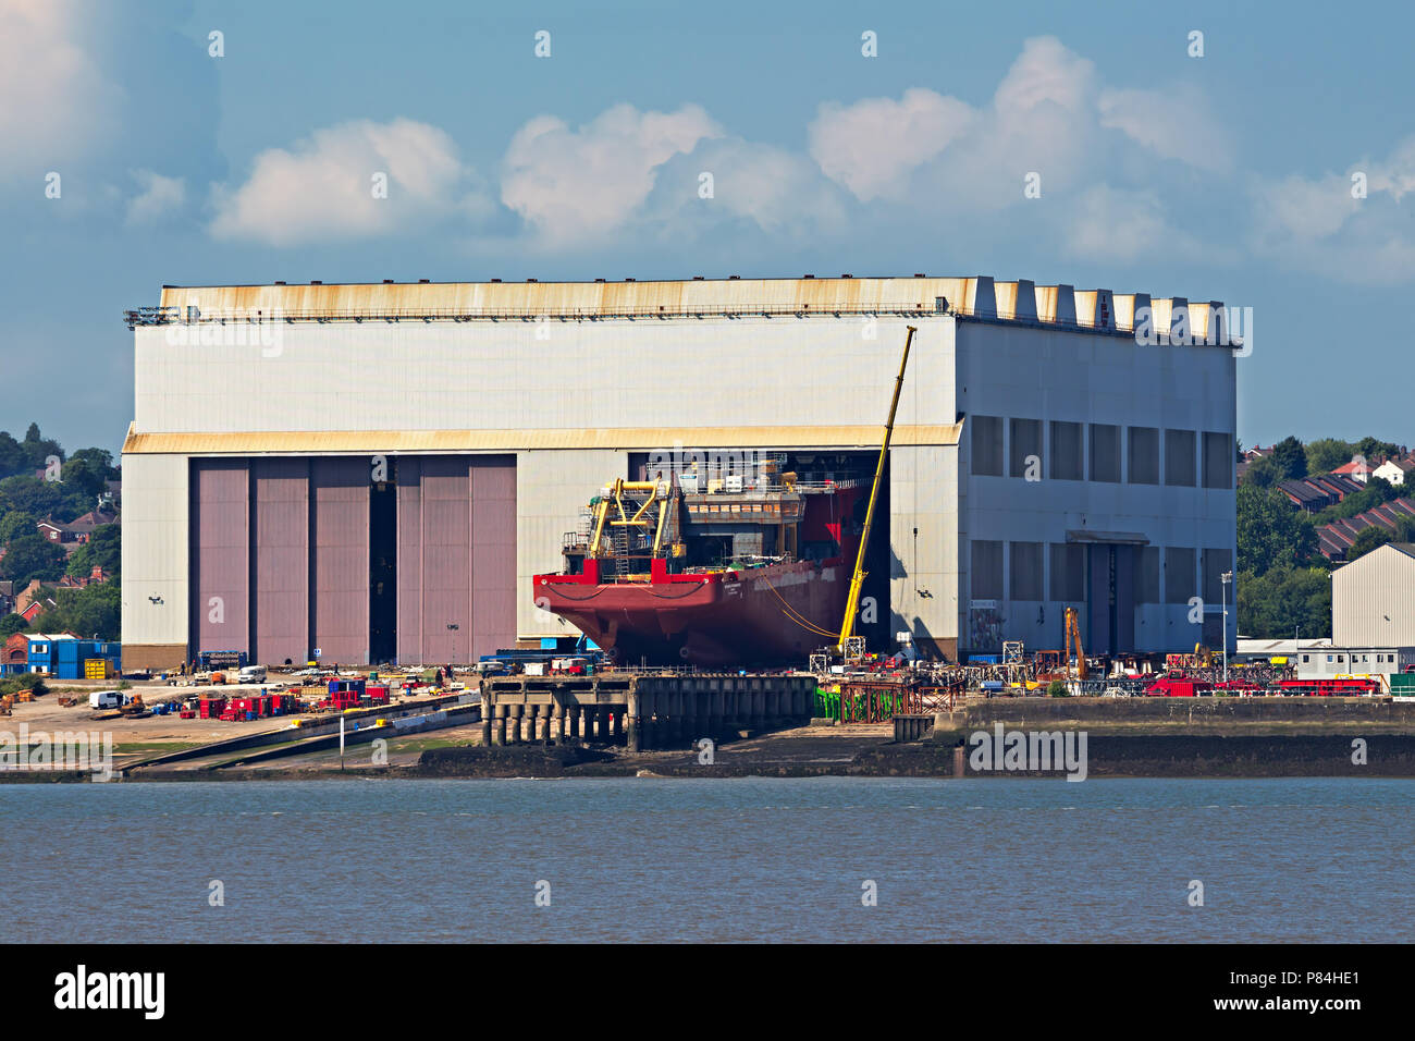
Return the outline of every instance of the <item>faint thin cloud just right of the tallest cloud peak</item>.
<path id="1" fill-rule="evenodd" d="M 1187 84 L 1149 91 L 1105 89 L 1099 96 L 1101 126 L 1119 130 L 1165 159 L 1201 170 L 1225 170 L 1232 143 L 1207 99 Z"/>

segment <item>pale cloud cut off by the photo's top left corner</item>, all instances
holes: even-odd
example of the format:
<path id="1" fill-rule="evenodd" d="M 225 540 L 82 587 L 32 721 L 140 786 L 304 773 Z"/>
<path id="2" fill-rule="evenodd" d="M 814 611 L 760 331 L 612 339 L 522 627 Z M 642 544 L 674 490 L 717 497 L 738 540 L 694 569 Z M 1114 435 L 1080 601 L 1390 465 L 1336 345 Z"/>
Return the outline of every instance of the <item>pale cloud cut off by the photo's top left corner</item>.
<path id="1" fill-rule="evenodd" d="M 78 40 L 89 21 L 71 0 L 0 0 L 0 177 L 48 170 L 113 139 L 123 91 Z"/>

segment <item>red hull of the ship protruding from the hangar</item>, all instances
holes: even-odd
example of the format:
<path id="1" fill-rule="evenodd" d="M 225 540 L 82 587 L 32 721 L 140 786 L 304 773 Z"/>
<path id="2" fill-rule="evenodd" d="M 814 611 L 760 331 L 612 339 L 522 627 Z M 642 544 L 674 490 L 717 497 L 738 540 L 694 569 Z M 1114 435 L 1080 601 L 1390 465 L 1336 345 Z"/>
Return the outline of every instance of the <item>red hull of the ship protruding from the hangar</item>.
<path id="1" fill-rule="evenodd" d="M 839 558 L 647 582 L 536 575 L 536 606 L 563 616 L 624 664 L 743 666 L 802 661 L 833 643 L 850 568 Z M 812 632 L 804 623 L 824 630 Z"/>

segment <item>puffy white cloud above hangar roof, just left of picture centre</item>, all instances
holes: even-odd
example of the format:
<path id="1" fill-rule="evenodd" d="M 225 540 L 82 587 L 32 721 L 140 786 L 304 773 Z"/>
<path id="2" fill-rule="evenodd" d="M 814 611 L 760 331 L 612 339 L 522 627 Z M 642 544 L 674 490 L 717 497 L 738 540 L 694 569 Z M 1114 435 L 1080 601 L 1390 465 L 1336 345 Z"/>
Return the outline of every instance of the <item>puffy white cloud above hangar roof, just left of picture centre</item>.
<path id="1" fill-rule="evenodd" d="M 511 139 L 501 201 L 546 244 L 593 239 L 634 215 L 664 163 L 720 135 L 696 105 L 678 112 L 616 105 L 579 130 L 555 116 L 538 116 Z"/>

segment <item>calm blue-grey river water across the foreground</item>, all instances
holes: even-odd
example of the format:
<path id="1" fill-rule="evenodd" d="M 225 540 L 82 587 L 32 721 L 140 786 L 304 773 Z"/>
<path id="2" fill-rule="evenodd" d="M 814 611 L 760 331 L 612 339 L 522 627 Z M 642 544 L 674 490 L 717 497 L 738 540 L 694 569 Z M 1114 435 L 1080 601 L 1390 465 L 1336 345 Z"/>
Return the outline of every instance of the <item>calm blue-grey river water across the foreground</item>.
<path id="1" fill-rule="evenodd" d="M 1412 780 L 0 785 L 0 921 L 79 942 L 1409 940 L 1412 850 Z"/>

